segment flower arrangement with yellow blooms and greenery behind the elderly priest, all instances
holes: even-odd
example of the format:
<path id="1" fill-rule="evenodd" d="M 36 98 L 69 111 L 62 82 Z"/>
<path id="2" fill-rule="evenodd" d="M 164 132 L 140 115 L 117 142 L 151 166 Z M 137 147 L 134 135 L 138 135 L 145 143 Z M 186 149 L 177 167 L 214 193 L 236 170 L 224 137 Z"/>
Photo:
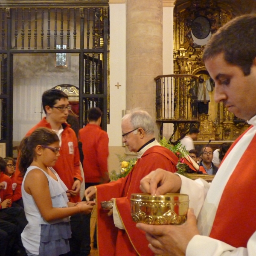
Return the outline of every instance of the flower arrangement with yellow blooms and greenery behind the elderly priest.
<path id="1" fill-rule="evenodd" d="M 185 149 L 185 147 L 182 147 L 180 143 L 177 143 L 177 145 L 172 146 L 169 144 L 169 142 L 166 140 L 165 137 L 163 137 L 163 139 L 160 140 L 159 143 L 163 147 L 171 150 L 179 158 L 177 163 L 177 169 L 178 169 L 177 173 L 179 173 L 180 175 L 185 175 L 188 166 L 186 165 L 186 163 L 184 163 L 183 158 L 189 154 L 188 151 Z M 121 157 L 120 155 L 117 155 L 117 157 L 119 158 L 119 162 L 121 162 L 121 170 L 119 173 L 116 173 L 116 171 L 113 170 L 109 174 L 111 181 L 118 180 L 119 178 L 122 178 L 128 175 L 137 161 L 137 158 L 125 160 L 125 157 Z"/>

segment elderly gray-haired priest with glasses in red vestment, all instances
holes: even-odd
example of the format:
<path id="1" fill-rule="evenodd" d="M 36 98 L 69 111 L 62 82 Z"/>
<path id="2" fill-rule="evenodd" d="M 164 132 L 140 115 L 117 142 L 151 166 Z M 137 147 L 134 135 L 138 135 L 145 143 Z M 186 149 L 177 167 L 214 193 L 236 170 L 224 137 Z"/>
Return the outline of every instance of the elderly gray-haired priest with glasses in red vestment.
<path id="1" fill-rule="evenodd" d="M 154 122 L 145 111 L 132 111 L 122 118 L 122 141 L 130 151 L 138 152 L 138 160 L 125 177 L 108 184 L 89 187 L 84 195 L 96 194 L 98 204 L 99 256 L 153 256 L 145 233 L 136 228 L 131 218 L 130 198 L 140 193 L 140 180 L 157 168 L 176 172 L 177 157 L 154 138 Z M 113 217 L 101 209 L 101 201 L 115 198 Z"/>

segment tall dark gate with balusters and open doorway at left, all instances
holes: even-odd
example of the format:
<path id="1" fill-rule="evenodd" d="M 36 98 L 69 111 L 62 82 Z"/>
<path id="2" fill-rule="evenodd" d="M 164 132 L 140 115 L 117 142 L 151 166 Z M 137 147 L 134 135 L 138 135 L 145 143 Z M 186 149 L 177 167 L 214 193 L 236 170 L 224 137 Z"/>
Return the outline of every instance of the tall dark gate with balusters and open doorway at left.
<path id="1" fill-rule="evenodd" d="M 0 143 L 6 143 L 7 155 L 12 156 L 13 55 L 17 53 L 79 53 L 80 127 L 87 118 L 87 109 L 97 106 L 102 110 L 102 128 L 106 130 L 109 118 L 108 13 L 108 0 L 0 3 Z"/>

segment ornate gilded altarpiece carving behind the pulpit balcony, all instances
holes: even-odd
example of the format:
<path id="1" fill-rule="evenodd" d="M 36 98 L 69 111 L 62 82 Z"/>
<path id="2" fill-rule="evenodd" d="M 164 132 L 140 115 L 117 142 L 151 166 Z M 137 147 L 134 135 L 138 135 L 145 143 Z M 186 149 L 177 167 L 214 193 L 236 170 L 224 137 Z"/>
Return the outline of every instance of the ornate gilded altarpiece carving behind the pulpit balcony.
<path id="1" fill-rule="evenodd" d="M 174 11 L 174 32 L 176 33 L 174 36 L 174 73 L 193 76 L 204 74 L 209 77 L 202 61 L 204 46 L 211 34 L 214 34 L 233 18 L 231 7 L 228 4 L 218 5 L 218 0 L 190 0 L 179 6 L 176 5 Z M 192 27 L 194 20 L 200 16 L 204 17 L 203 20 L 206 24 L 207 20 L 210 24 L 209 37 L 203 40 L 198 40 L 198 37 L 195 37 Z M 196 24 L 204 26 L 204 23 Z M 182 104 L 184 101 L 192 102 L 189 94 L 182 96 L 180 90 L 183 90 L 182 84 L 179 88 L 174 89 L 174 102 L 178 104 L 178 107 L 174 109 L 175 116 L 183 116 Z M 180 96 L 183 98 L 180 99 Z M 195 102 L 196 100 L 197 98 L 195 98 Z M 212 99 L 211 102 L 213 102 Z M 187 110 L 187 113 L 190 112 Z M 192 116 L 190 118 L 192 120 Z M 198 134 L 198 140 L 234 140 L 248 127 L 242 120 L 237 120 L 222 103 L 212 107 L 209 116 L 198 116 L 198 121 L 201 132 Z M 177 126 L 175 133 L 175 140 L 177 140 L 189 127 L 185 128 L 185 125 L 182 125 L 179 120 L 175 126 Z"/>

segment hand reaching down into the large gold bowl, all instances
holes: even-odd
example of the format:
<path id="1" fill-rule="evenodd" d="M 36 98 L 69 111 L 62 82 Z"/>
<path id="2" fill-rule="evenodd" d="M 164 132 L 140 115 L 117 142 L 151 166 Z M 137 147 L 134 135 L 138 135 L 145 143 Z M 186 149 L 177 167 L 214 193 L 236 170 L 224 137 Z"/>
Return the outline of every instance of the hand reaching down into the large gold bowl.
<path id="1" fill-rule="evenodd" d="M 151 195 L 178 193 L 180 187 L 180 177 L 163 169 L 156 169 L 140 180 L 140 190 Z"/>

